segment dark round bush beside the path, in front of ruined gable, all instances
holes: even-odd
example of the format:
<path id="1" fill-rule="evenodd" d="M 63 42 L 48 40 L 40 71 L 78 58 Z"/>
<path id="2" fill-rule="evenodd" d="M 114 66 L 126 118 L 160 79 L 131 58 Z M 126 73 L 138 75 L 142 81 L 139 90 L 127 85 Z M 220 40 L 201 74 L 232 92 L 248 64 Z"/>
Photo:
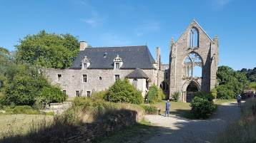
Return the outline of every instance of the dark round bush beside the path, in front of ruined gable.
<path id="1" fill-rule="evenodd" d="M 215 110 L 214 96 L 210 92 L 197 92 L 190 106 L 191 113 L 197 119 L 205 119 Z"/>

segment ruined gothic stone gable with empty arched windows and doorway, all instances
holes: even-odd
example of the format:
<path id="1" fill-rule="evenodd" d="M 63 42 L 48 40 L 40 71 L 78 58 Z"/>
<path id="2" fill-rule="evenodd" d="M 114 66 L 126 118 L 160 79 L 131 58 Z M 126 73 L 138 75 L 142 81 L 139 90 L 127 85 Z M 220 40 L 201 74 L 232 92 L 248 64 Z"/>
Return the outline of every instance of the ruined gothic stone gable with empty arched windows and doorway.
<path id="1" fill-rule="evenodd" d="M 195 59 L 189 54 L 196 55 Z M 187 56 L 190 63 L 186 60 Z M 219 39 L 215 36 L 212 40 L 194 19 L 176 42 L 174 38 L 170 42 L 169 98 L 173 97 L 174 92 L 181 92 L 179 100 L 189 102 L 188 94 L 194 92 L 191 89 L 210 91 L 215 88 L 218 60 Z M 202 68 L 201 76 L 193 73 L 195 66 Z"/>

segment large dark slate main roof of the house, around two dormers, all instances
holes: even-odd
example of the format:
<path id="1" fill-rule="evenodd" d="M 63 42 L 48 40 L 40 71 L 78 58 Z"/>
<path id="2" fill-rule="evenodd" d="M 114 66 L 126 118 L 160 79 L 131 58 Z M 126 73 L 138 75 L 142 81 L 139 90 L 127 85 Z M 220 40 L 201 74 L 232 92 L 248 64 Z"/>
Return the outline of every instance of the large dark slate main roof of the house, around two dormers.
<path id="1" fill-rule="evenodd" d="M 155 69 L 154 58 L 147 46 L 85 48 L 84 51 L 79 52 L 70 69 L 81 69 L 84 56 L 90 61 L 88 69 L 113 69 L 113 60 L 117 55 L 123 62 L 120 69 Z"/>

